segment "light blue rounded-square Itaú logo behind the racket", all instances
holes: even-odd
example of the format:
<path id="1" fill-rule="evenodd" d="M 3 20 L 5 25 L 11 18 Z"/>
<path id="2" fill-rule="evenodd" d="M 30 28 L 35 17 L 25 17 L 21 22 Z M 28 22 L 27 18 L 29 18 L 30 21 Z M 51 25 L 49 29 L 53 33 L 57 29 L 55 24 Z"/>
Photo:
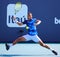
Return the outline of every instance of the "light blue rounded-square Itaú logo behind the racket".
<path id="1" fill-rule="evenodd" d="M 26 4 L 22 4 L 22 8 L 20 11 L 15 15 L 15 4 L 8 4 L 7 6 L 7 26 L 8 27 L 25 27 L 26 25 L 19 26 L 18 24 L 14 23 L 13 16 L 16 16 L 16 19 L 20 22 L 24 22 L 27 19 L 28 14 L 28 7 Z"/>

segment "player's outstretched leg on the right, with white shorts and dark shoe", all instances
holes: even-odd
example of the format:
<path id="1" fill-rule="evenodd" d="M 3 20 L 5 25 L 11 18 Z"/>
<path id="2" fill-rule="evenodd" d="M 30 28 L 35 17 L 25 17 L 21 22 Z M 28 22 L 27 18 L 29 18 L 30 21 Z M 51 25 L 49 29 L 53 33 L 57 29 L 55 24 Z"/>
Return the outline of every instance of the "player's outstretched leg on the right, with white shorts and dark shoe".
<path id="1" fill-rule="evenodd" d="M 34 42 L 38 42 L 42 47 L 45 47 L 45 48 L 51 50 L 55 55 L 57 55 L 57 52 L 54 49 L 52 49 L 50 46 L 45 44 L 37 35 L 33 36 L 31 39 Z"/>

